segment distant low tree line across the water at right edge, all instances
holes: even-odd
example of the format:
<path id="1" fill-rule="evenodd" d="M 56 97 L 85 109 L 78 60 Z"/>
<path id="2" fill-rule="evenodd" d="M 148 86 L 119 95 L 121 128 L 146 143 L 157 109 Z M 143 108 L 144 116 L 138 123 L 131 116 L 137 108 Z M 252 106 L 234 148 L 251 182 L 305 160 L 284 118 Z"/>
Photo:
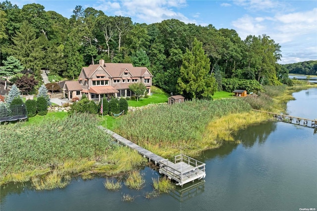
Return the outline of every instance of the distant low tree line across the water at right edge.
<path id="1" fill-rule="evenodd" d="M 287 68 L 289 73 L 317 75 L 317 60 L 283 64 L 282 66 Z"/>

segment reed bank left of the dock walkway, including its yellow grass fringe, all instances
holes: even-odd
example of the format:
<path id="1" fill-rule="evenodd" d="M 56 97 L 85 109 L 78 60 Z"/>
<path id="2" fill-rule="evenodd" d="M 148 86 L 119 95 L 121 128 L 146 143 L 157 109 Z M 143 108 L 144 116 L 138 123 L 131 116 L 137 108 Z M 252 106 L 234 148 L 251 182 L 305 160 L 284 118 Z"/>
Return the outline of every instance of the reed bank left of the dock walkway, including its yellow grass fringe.
<path id="1" fill-rule="evenodd" d="M 36 189 L 61 187 L 72 174 L 114 175 L 146 162 L 113 143 L 88 114 L 1 125 L 0 140 L 0 184 L 31 180 Z"/>

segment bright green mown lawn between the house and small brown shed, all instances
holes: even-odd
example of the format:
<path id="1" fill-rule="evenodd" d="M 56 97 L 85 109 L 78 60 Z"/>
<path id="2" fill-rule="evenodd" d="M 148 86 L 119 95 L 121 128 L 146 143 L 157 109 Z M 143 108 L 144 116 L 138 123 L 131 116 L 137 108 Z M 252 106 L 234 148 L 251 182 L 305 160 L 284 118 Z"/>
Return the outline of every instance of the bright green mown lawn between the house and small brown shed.
<path id="1" fill-rule="evenodd" d="M 128 105 L 132 107 L 146 106 L 149 104 L 159 104 L 159 103 L 167 103 L 167 98 L 169 95 L 163 92 L 158 87 L 151 87 L 152 94 L 149 98 L 142 98 L 137 100 L 129 100 Z"/>

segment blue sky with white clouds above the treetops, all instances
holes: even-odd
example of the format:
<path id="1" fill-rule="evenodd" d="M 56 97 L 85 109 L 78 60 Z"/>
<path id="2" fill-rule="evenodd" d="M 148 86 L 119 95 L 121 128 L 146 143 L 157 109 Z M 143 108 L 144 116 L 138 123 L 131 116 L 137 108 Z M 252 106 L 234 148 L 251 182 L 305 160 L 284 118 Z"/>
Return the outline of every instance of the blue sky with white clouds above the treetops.
<path id="1" fill-rule="evenodd" d="M 0 0 L 3 1 L 3 0 Z M 317 0 L 11 0 L 22 8 L 39 3 L 69 18 L 76 5 L 131 17 L 136 23 L 175 18 L 228 28 L 244 40 L 266 34 L 282 50 L 281 64 L 317 60 Z"/>

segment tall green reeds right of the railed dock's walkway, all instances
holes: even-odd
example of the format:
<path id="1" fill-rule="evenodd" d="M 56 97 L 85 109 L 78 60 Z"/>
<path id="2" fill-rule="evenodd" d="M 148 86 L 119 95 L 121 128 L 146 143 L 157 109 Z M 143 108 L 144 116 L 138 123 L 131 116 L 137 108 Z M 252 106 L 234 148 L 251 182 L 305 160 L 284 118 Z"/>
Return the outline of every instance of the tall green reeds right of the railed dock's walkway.
<path id="1" fill-rule="evenodd" d="M 114 131 L 162 157 L 179 154 L 180 147 L 186 155 L 193 156 L 201 151 L 197 143 L 208 135 L 206 126 L 211 121 L 250 109 L 247 102 L 237 98 L 159 105 L 128 113 Z"/>

